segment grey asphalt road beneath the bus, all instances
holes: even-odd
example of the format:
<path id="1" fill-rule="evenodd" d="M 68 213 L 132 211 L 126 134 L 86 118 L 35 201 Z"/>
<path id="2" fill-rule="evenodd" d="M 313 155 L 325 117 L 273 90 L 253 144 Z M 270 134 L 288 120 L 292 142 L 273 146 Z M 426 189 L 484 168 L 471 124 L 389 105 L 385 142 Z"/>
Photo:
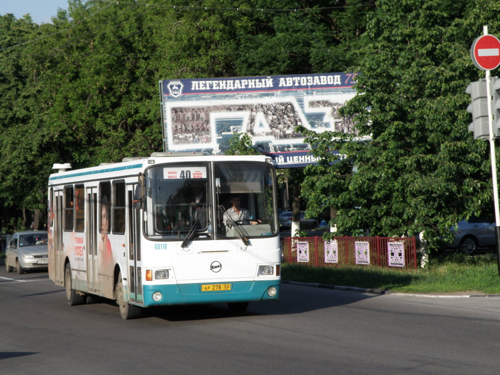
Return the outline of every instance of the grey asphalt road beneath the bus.
<path id="1" fill-rule="evenodd" d="M 46 272 L 0 268 L 0 374 L 493 374 L 500 297 L 282 284 L 278 302 L 151 310 L 68 306 Z"/>

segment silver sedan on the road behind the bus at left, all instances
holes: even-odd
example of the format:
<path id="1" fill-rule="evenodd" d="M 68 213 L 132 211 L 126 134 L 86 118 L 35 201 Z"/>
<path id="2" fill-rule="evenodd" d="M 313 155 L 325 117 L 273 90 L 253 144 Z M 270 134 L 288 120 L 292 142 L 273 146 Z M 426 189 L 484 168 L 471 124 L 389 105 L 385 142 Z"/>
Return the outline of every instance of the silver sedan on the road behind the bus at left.
<path id="1" fill-rule="evenodd" d="M 12 234 L 5 248 L 5 268 L 17 273 L 25 269 L 46 268 L 48 266 L 47 232 L 30 230 Z"/>

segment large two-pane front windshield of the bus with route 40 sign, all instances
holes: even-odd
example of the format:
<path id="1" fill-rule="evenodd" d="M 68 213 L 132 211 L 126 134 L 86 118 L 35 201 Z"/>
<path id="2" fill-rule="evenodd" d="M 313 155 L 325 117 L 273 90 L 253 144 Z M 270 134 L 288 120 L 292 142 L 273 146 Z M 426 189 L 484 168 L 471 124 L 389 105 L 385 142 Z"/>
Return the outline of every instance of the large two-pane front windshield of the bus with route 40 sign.
<path id="1" fill-rule="evenodd" d="M 145 176 L 145 232 L 151 238 L 178 240 L 188 233 L 193 239 L 277 233 L 274 171 L 268 164 L 170 163 L 148 168 Z"/>

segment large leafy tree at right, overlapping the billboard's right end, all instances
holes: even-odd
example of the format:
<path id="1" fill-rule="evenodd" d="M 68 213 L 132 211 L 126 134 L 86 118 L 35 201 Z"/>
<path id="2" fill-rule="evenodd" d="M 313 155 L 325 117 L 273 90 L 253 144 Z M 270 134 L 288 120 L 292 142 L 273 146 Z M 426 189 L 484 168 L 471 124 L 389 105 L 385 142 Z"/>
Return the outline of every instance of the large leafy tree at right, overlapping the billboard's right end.
<path id="1" fill-rule="evenodd" d="M 361 36 L 359 95 L 343 113 L 356 115 L 360 136 L 308 133 L 318 156 L 342 161 L 307 168 L 303 189 L 311 212 L 338 209 L 343 232 L 415 235 L 432 241 L 472 213 L 491 213 L 486 142 L 467 131 L 469 48 L 482 24 L 500 29 L 499 4 L 477 0 L 377 1 Z M 355 166 L 352 171 L 352 166 Z M 489 173 L 489 174 L 488 174 Z"/>

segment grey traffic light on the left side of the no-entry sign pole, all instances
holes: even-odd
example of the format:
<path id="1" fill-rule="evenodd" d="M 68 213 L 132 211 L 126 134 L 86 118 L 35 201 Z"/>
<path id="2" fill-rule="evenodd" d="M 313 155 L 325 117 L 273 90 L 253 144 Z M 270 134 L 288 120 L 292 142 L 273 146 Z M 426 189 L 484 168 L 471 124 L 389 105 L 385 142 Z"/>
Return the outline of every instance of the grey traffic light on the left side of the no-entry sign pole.
<path id="1" fill-rule="evenodd" d="M 472 122 L 468 129 L 474 132 L 474 139 L 487 139 L 489 138 L 488 105 L 490 105 L 490 99 L 486 95 L 486 81 L 479 79 L 476 82 L 470 82 L 465 92 L 470 94 L 471 100 L 467 112 L 472 113 Z M 490 93 L 492 93 L 491 90 Z"/>

